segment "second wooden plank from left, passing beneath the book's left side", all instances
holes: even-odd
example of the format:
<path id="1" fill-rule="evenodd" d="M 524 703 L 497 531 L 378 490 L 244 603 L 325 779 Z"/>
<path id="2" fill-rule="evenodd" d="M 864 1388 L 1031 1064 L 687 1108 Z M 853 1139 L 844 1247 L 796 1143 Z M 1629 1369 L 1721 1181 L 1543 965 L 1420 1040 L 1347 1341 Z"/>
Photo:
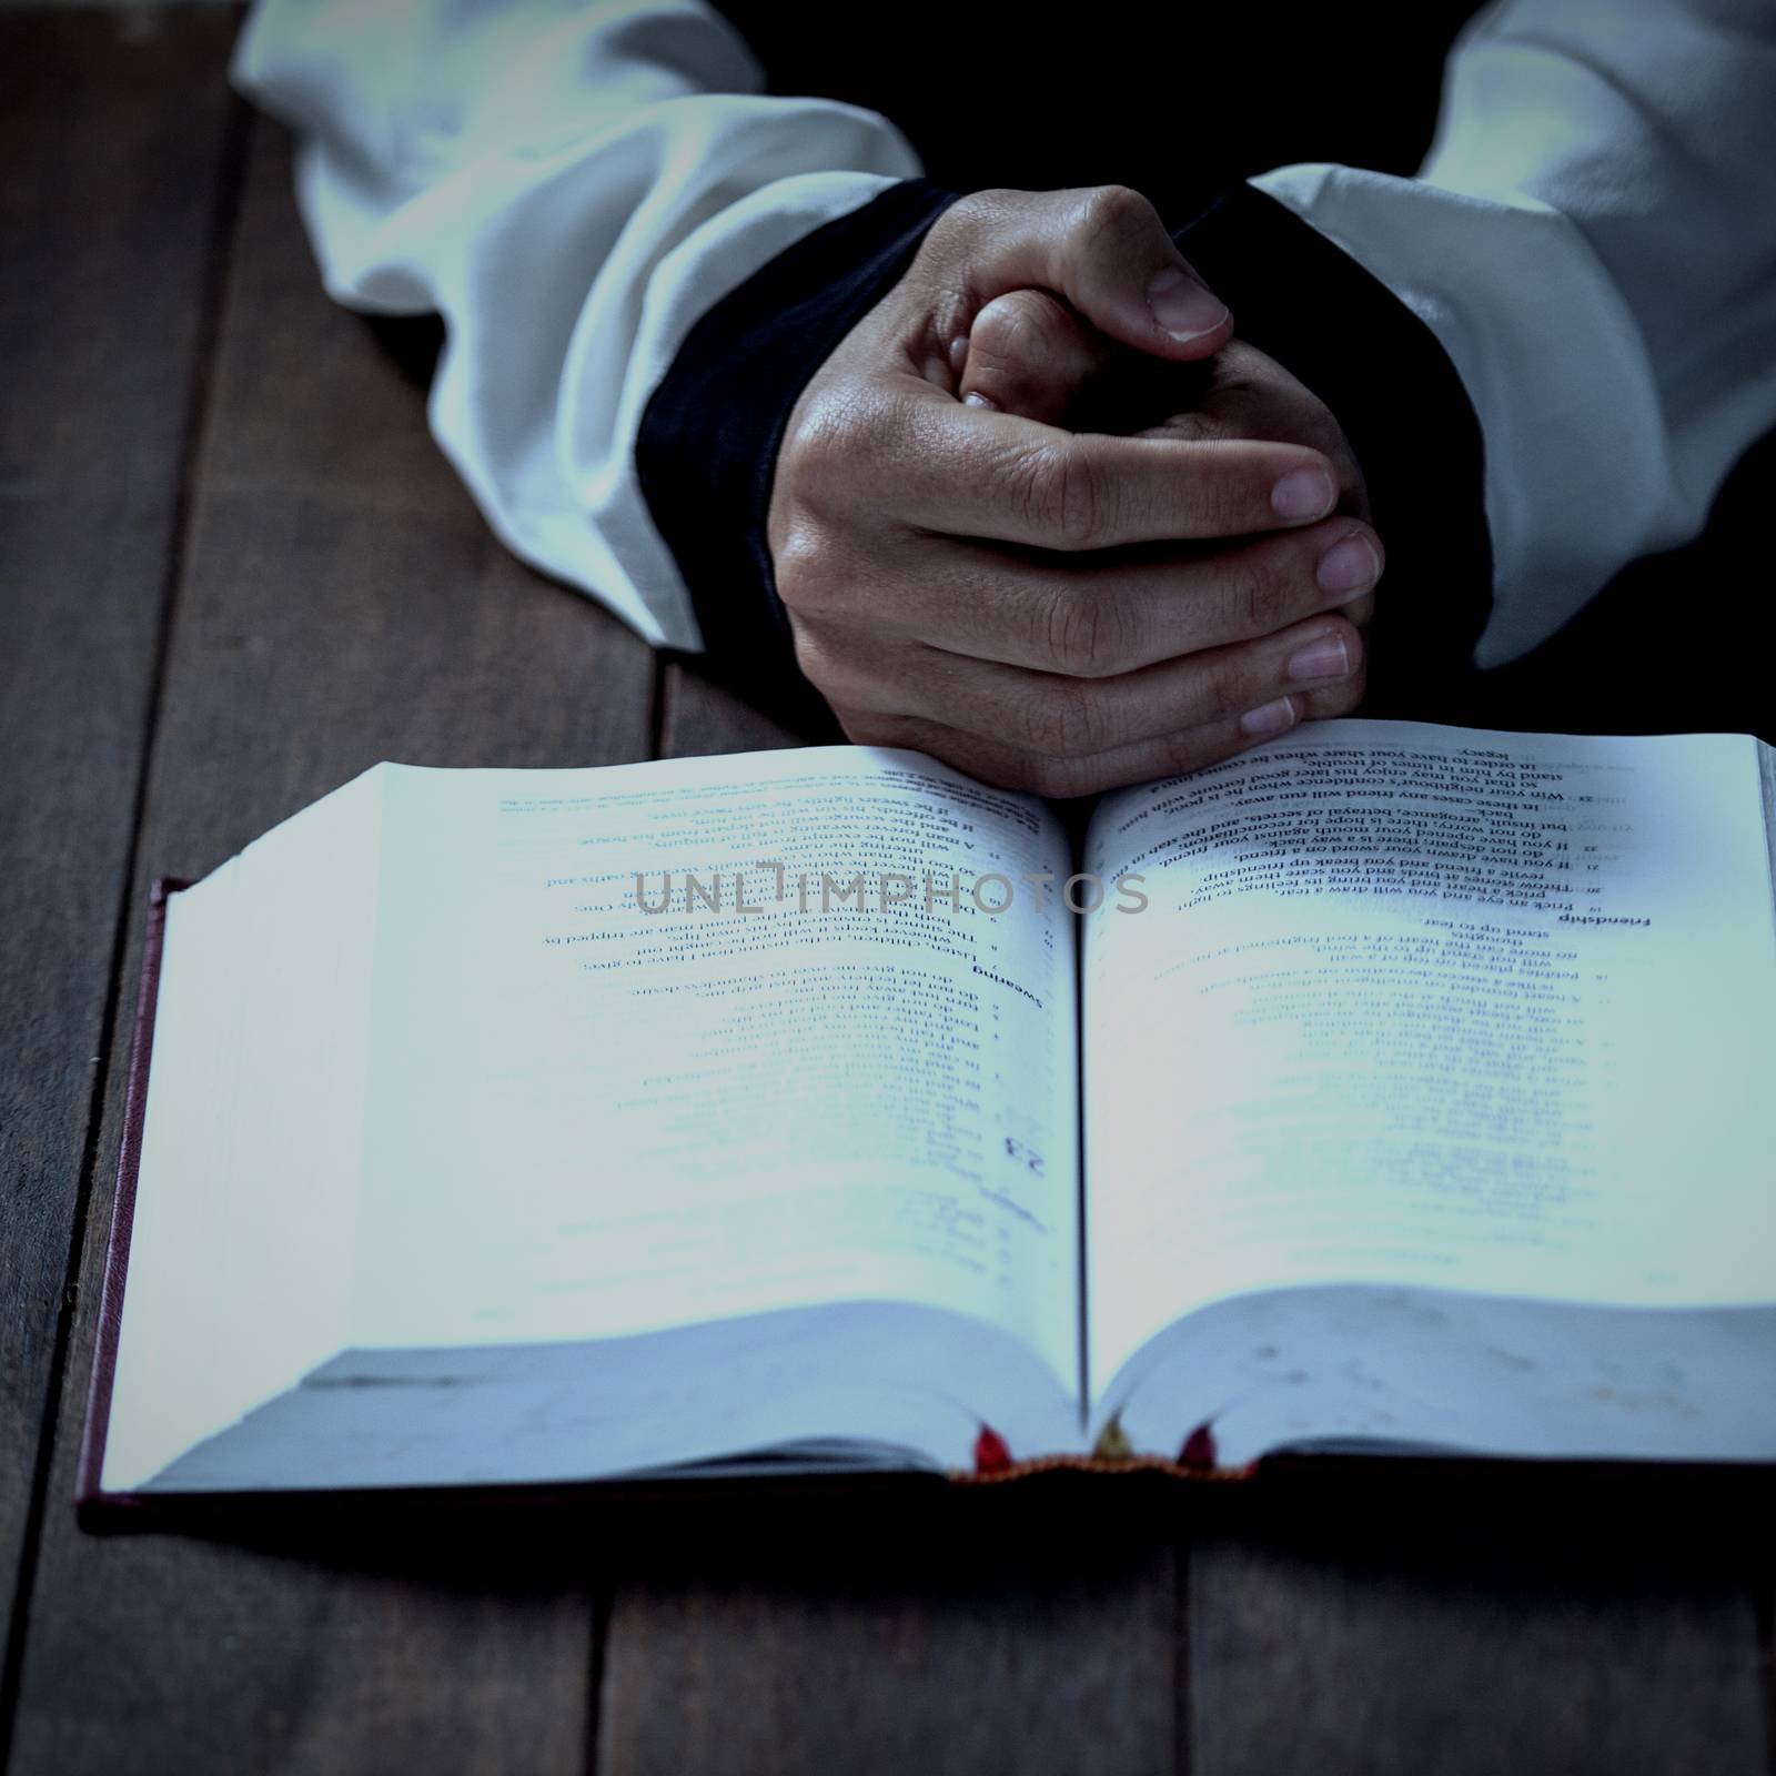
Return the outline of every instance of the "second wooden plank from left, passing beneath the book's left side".
<path id="1" fill-rule="evenodd" d="M 643 757 L 654 657 L 494 542 L 423 394 L 321 295 L 256 126 L 156 737 L 135 913 L 378 758 Z M 131 945 L 126 975 L 133 971 Z M 85 1382 L 119 1133 L 107 1103 L 69 1375 Z M 599 1597 L 572 1549 L 462 1520 L 252 1542 L 94 1538 L 64 1394 L 21 1771 L 579 1771 Z"/>

